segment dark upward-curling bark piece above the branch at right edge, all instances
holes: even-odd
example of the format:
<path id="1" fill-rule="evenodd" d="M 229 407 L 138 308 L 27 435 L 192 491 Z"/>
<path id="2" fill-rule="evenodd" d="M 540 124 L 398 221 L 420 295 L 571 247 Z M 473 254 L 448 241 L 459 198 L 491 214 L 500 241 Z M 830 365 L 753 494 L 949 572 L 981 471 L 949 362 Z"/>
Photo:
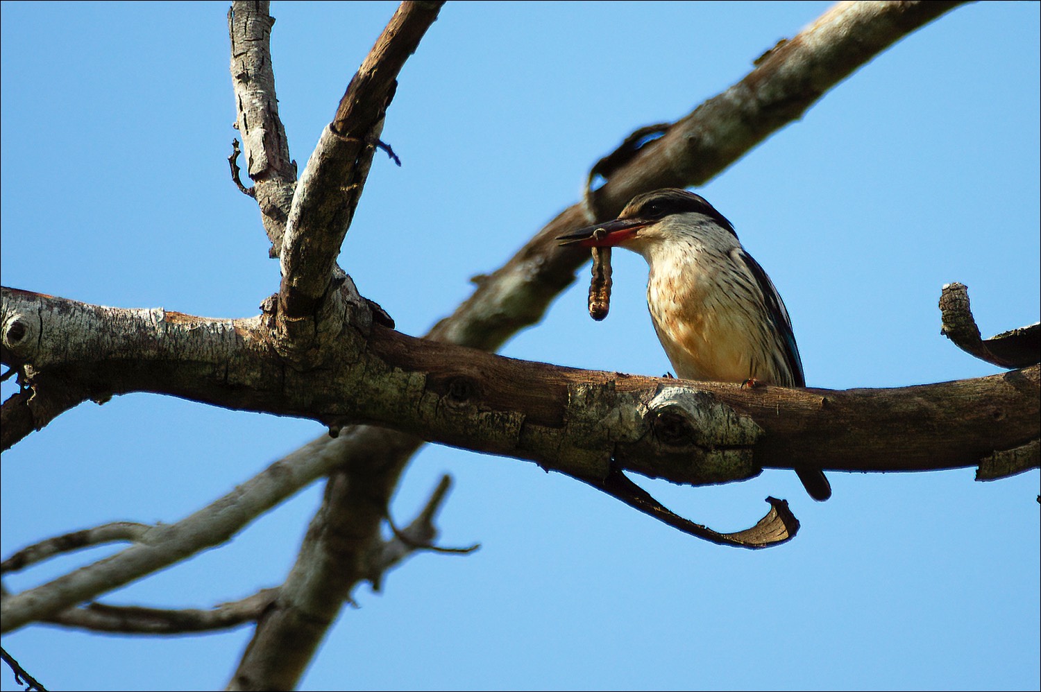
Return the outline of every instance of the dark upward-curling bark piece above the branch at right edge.
<path id="1" fill-rule="evenodd" d="M 965 284 L 955 282 L 943 287 L 940 313 L 940 333 L 969 355 L 1000 367 L 1026 367 L 1041 362 L 1041 325 L 1013 329 L 987 340 L 980 338 Z"/>

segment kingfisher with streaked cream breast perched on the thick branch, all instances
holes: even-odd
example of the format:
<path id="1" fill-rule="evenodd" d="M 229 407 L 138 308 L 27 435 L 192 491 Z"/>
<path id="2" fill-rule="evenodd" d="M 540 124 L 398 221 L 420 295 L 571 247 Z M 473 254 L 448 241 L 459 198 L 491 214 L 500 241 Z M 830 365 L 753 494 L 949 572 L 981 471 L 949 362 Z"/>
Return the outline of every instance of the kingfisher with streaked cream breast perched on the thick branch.
<path id="1" fill-rule="evenodd" d="M 788 310 L 734 227 L 700 195 L 639 195 L 618 217 L 557 238 L 639 253 L 651 273 L 648 307 L 677 377 L 805 387 Z M 811 497 L 828 499 L 820 469 L 795 468 Z"/>

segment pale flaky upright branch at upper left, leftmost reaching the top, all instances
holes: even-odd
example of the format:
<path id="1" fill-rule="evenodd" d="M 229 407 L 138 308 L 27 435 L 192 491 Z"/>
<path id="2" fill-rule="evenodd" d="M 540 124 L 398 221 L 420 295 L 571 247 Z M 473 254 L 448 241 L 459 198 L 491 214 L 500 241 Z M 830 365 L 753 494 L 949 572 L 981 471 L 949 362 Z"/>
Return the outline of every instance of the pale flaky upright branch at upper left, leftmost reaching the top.
<path id="1" fill-rule="evenodd" d="M 235 93 L 235 127 L 243 137 L 251 197 L 271 240 L 271 256 L 282 253 L 285 220 L 297 182 L 285 128 L 278 117 L 275 72 L 271 59 L 271 2 L 236 1 L 228 10 L 231 37 L 231 84 Z M 234 163 L 232 163 L 234 166 Z M 235 182 L 239 189 L 242 183 Z"/>

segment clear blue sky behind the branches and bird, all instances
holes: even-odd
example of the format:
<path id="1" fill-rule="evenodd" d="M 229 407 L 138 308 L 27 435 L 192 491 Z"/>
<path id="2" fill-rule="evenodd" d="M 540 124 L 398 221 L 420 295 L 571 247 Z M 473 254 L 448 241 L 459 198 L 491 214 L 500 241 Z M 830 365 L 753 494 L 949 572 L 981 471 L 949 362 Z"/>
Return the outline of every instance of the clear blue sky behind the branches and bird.
<path id="1" fill-rule="evenodd" d="M 827 2 L 449 3 L 405 66 L 340 264 L 418 335 L 577 200 L 629 132 L 740 79 Z M 307 160 L 396 3 L 279 3 L 273 50 L 293 156 Z M 277 289 L 255 204 L 228 180 L 236 132 L 226 3 L 2 4 L 3 284 L 121 307 L 247 316 Z M 792 316 L 811 386 L 998 371 L 939 334 L 969 286 L 984 336 L 1039 298 L 1039 5 L 960 7 L 892 47 L 699 191 Z M 611 314 L 585 271 L 503 353 L 661 375 L 646 268 L 614 254 Z M 593 345 L 595 344 L 595 347 Z M 5 385 L 5 395 L 9 387 Z M 172 522 L 323 434 L 318 424 L 133 394 L 83 405 L 4 455 L 2 554 L 106 521 Z M 710 545 L 535 465 L 430 445 L 392 512 L 442 472 L 421 555 L 345 609 L 302 689 L 1038 689 L 1039 473 L 791 472 L 639 482 L 722 530 L 786 497 L 791 543 Z M 107 598 L 208 607 L 282 581 L 321 495 Z M 43 583 L 106 550 L 5 584 Z M 250 630 L 102 637 L 28 627 L 4 646 L 52 689 L 211 689 Z M 19 689 L 9 672 L 2 689 Z"/>

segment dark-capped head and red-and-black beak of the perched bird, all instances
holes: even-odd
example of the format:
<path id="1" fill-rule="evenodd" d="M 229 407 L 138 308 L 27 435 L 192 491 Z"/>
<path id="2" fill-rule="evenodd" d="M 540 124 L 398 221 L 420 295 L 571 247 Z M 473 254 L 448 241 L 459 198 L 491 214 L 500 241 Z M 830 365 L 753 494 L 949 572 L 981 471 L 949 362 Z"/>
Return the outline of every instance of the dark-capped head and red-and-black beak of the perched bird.
<path id="1" fill-rule="evenodd" d="M 618 217 L 588 226 L 557 237 L 562 246 L 612 248 L 623 246 L 640 252 L 640 246 L 670 238 L 696 229 L 717 227 L 717 232 L 737 239 L 734 227 L 701 195 L 666 187 L 637 195 Z M 704 232 L 704 231 L 703 231 Z"/>

